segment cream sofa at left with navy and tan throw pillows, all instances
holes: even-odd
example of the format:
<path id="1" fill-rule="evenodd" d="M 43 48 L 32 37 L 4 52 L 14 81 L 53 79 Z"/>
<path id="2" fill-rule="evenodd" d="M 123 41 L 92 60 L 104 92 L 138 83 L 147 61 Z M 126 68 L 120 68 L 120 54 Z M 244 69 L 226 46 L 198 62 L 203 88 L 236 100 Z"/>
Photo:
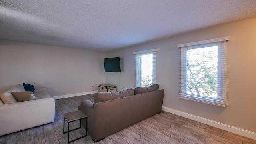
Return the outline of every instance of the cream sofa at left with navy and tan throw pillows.
<path id="1" fill-rule="evenodd" d="M 54 122 L 55 102 L 46 87 L 33 94 L 17 84 L 0 97 L 0 136 Z"/>

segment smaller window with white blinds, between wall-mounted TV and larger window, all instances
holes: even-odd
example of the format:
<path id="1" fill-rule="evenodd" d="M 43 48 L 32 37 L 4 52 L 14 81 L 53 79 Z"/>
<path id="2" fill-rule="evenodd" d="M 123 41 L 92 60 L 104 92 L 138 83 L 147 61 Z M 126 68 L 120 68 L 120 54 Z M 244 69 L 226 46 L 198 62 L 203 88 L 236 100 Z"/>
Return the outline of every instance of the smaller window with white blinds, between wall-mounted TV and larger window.
<path id="1" fill-rule="evenodd" d="M 156 83 L 156 52 L 158 49 L 134 52 L 136 87 Z"/>

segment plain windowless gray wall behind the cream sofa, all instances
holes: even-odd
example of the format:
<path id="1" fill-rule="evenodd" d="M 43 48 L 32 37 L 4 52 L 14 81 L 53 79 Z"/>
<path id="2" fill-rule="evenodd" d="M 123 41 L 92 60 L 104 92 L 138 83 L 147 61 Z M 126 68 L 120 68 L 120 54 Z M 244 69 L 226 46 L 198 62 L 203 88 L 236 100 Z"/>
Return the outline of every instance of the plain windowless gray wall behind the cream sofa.
<path id="1" fill-rule="evenodd" d="M 0 39 L 0 93 L 16 84 L 46 86 L 51 96 L 98 90 L 105 52 Z"/>

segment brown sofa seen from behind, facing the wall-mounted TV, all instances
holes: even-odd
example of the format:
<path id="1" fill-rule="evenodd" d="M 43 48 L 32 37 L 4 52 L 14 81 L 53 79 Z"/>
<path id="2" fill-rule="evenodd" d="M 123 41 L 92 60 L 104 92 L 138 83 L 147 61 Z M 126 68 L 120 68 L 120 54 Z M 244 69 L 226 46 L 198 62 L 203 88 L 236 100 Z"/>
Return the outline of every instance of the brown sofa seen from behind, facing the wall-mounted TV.
<path id="1" fill-rule="evenodd" d="M 98 142 L 106 136 L 162 111 L 164 90 L 158 84 L 120 92 L 96 93 L 94 103 L 81 102 L 78 110 L 88 115 L 88 133 Z M 86 121 L 82 125 L 86 127 Z"/>

